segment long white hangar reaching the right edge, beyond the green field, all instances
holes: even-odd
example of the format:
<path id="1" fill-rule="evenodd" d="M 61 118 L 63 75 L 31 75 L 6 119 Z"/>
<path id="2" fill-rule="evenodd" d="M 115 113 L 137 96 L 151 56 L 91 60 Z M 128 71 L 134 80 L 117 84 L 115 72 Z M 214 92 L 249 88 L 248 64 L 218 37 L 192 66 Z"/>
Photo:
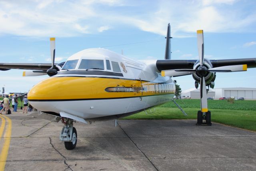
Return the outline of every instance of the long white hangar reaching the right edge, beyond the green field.
<path id="1" fill-rule="evenodd" d="M 220 97 L 244 97 L 246 100 L 256 100 L 256 88 L 216 88 L 212 89 L 215 91 L 215 98 Z"/>

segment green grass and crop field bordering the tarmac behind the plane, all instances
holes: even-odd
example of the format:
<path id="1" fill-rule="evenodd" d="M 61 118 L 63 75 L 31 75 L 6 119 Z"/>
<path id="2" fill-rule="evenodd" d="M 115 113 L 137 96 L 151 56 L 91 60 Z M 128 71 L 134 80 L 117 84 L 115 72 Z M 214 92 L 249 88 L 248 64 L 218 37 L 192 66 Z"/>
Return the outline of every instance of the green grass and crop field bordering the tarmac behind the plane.
<path id="1" fill-rule="evenodd" d="M 183 103 L 183 102 L 184 103 Z M 200 99 L 176 100 L 188 114 L 184 116 L 172 102 L 156 107 L 153 113 L 140 112 L 124 119 L 196 119 L 200 110 Z M 208 100 L 208 109 L 212 113 L 212 121 L 234 127 L 256 131 L 256 101 L 241 100 L 228 103 L 226 100 Z M 153 110 L 152 110 L 153 111 Z"/>

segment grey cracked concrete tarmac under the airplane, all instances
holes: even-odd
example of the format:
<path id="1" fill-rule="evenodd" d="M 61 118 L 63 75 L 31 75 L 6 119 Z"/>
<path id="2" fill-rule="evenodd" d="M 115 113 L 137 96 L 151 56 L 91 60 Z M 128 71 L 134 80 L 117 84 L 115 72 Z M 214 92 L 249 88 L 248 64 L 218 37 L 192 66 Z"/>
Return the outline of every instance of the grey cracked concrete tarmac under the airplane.
<path id="1" fill-rule="evenodd" d="M 218 123 L 118 120 L 117 127 L 114 121 L 74 123 L 78 142 L 74 150 L 66 150 L 59 141 L 61 122 L 22 112 L 4 116 L 12 121 L 6 171 L 256 170 L 256 132 Z M 0 149 L 5 138 L 3 133 Z"/>

